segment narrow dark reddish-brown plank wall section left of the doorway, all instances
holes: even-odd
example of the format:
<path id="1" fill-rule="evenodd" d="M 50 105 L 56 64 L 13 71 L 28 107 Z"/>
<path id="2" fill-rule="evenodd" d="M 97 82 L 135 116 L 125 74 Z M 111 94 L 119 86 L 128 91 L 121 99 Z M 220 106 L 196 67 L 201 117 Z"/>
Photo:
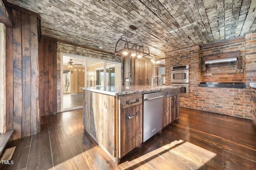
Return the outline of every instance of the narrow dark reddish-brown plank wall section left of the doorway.
<path id="1" fill-rule="evenodd" d="M 39 43 L 40 116 L 57 113 L 57 42 L 40 39 Z"/>

